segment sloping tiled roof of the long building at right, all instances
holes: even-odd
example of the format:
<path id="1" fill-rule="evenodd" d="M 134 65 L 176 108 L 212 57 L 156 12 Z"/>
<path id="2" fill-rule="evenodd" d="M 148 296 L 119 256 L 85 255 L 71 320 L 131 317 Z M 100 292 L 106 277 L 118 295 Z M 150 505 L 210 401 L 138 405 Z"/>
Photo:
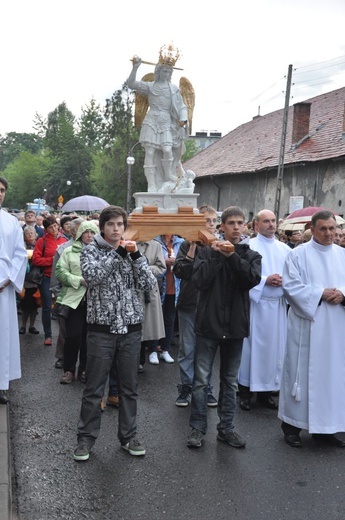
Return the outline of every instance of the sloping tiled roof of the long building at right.
<path id="1" fill-rule="evenodd" d="M 294 107 L 289 107 L 284 164 L 320 161 L 345 155 L 345 87 L 305 100 L 311 103 L 308 137 L 292 147 Z M 197 177 L 276 168 L 284 110 L 257 116 L 229 132 L 184 163 Z"/>

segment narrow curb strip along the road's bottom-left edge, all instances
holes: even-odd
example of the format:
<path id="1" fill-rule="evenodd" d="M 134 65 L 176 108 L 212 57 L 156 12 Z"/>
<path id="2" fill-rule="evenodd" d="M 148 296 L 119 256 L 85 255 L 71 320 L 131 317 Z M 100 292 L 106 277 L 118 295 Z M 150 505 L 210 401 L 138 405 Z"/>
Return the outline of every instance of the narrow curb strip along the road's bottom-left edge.
<path id="1" fill-rule="evenodd" d="M 12 518 L 9 406 L 0 404 L 0 520 Z"/>

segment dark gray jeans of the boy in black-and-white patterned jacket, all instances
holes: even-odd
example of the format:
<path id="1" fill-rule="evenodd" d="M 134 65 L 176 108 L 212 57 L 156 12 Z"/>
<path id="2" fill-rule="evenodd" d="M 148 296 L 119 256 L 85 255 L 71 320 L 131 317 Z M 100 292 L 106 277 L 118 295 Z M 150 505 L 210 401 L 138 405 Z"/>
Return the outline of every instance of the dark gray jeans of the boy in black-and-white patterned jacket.
<path id="1" fill-rule="evenodd" d="M 126 444 L 136 435 L 138 366 L 141 330 L 128 334 L 89 331 L 86 385 L 78 421 L 78 443 L 95 443 L 101 426 L 101 399 L 115 357 L 120 397 L 118 438 Z"/>

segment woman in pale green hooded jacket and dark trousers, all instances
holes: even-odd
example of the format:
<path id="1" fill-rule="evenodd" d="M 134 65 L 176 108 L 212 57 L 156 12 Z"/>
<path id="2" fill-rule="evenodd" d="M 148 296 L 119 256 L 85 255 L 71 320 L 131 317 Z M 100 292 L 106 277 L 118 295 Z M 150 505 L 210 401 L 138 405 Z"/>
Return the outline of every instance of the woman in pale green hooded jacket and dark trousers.
<path id="1" fill-rule="evenodd" d="M 80 253 L 98 233 L 92 221 L 84 221 L 77 231 L 75 242 L 67 247 L 56 264 L 56 277 L 62 283 L 57 303 L 65 312 L 66 338 L 64 344 L 64 374 L 61 384 L 75 379 L 79 354 L 77 378 L 85 383 L 86 367 L 86 291 L 87 284 L 80 269 Z"/>

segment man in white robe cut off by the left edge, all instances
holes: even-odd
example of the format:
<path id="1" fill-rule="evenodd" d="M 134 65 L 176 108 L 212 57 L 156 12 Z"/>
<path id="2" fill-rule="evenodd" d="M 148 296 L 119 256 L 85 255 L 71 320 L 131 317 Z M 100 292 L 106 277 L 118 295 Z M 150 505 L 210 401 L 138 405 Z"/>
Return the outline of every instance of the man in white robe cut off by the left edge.
<path id="1" fill-rule="evenodd" d="M 24 284 L 27 253 L 16 217 L 1 209 L 8 182 L 0 177 L 0 403 L 8 400 L 9 382 L 21 377 L 16 291 Z"/>

